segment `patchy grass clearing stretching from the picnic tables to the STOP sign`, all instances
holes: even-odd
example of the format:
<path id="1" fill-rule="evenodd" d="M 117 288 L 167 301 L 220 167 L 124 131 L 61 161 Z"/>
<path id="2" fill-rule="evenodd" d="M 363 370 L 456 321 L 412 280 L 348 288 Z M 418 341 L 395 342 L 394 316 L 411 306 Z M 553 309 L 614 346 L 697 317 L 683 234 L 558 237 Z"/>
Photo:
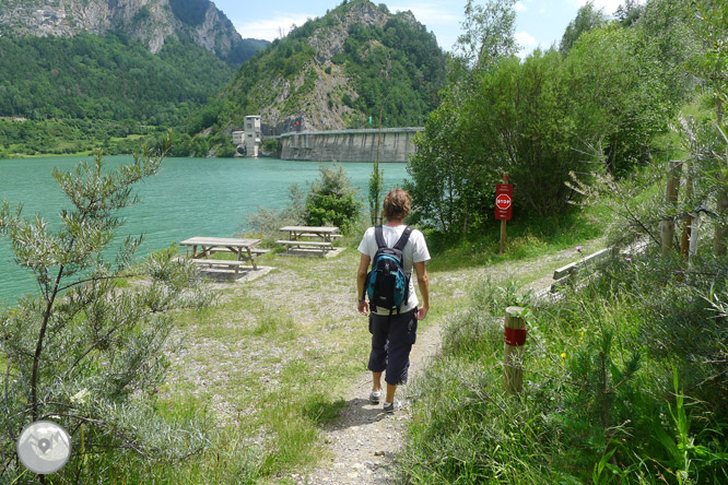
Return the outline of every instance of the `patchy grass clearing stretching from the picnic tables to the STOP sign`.
<path id="1" fill-rule="evenodd" d="M 483 286 L 483 277 L 491 281 L 488 287 L 507 294 L 516 274 L 533 282 L 577 259 L 577 244 L 601 244 L 585 242 L 578 230 L 570 233 L 571 239 L 559 235 L 552 240 L 518 227 L 510 248 L 529 238 L 530 258 L 483 253 L 477 245 L 433 247 L 433 308 L 422 330 L 461 311 L 470 288 Z M 318 463 L 321 425 L 337 419 L 345 404 L 339 395 L 366 371 L 369 334 L 355 310 L 357 242 L 351 239 L 333 259 L 266 255 L 259 262 L 274 267 L 273 272 L 240 285 L 219 285 L 216 305 L 176 315 L 181 345 L 171 353 L 171 378 L 160 389 L 157 407 L 169 418 L 208 419 L 209 447 L 172 466 L 136 463 L 132 470 L 126 462 L 110 463 L 115 483 L 149 483 L 142 480 L 149 476 L 161 484 L 289 483 L 289 473 Z"/>

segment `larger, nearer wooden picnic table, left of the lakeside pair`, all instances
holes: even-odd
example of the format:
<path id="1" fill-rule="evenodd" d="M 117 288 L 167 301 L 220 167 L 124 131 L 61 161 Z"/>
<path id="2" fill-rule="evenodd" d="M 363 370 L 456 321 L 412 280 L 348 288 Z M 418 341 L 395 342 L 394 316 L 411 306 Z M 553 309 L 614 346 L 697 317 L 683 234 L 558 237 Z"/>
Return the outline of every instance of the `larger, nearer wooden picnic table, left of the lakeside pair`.
<path id="1" fill-rule="evenodd" d="M 258 249 L 260 239 L 238 239 L 234 237 L 201 237 L 196 236 L 179 242 L 180 246 L 192 247 L 192 261 L 200 267 L 227 267 L 235 270 L 237 274 L 239 268 L 250 262 L 254 270 L 257 270 L 256 258 L 259 255 L 268 252 L 267 249 Z M 198 251 L 198 247 L 200 250 Z M 236 260 L 210 259 L 215 252 L 233 252 L 237 256 Z"/>

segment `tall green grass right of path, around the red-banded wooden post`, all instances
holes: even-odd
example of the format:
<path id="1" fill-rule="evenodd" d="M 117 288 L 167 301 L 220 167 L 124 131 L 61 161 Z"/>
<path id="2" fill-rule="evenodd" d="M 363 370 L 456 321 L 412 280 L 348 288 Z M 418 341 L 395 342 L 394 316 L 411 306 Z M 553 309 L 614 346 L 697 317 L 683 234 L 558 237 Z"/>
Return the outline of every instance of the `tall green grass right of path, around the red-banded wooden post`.
<path id="1" fill-rule="evenodd" d="M 402 483 L 728 483 L 728 261 L 615 259 L 530 301 L 525 390 L 502 391 L 505 307 L 489 282 L 415 388 Z"/>

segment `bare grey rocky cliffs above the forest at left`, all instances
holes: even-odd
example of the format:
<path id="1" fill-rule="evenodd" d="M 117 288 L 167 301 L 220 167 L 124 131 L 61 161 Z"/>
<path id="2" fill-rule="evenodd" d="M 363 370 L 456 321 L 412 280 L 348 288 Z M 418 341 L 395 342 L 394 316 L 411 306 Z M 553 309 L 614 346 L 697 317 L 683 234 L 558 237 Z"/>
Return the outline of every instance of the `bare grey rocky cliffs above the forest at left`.
<path id="1" fill-rule="evenodd" d="M 191 43 L 238 66 L 260 42 L 243 39 L 209 0 L 2 0 L 0 33 L 70 37 L 118 32 L 153 54 L 165 43 Z"/>

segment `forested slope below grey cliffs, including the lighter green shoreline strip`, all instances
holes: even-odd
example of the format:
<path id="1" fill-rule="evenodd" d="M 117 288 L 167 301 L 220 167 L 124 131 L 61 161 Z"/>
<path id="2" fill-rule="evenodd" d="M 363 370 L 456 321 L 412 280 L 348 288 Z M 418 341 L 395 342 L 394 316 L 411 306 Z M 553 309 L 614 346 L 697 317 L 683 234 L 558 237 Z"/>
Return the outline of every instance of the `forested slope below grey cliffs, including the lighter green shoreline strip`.
<path id="1" fill-rule="evenodd" d="M 0 37 L 0 117 L 11 118 L 0 157 L 126 151 L 110 138 L 179 125 L 233 74 L 201 47 L 169 42 L 154 55 L 114 34 Z"/>

